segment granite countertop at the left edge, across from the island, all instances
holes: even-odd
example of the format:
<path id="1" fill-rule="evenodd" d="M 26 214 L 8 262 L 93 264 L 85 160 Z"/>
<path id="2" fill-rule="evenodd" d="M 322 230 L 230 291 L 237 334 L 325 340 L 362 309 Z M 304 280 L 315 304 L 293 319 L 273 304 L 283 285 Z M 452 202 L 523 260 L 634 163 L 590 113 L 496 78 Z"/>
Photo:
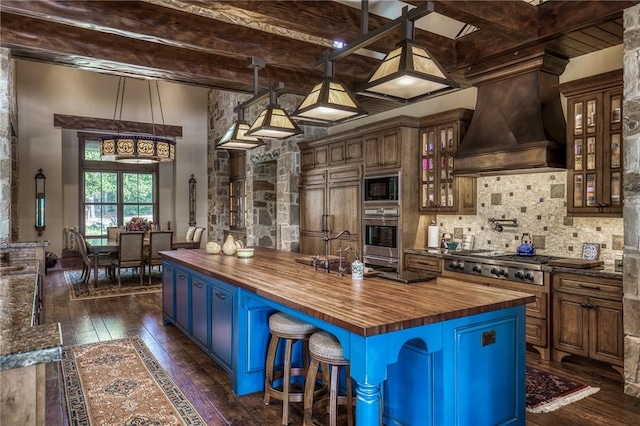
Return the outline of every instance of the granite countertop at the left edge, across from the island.
<path id="1" fill-rule="evenodd" d="M 0 275 L 0 370 L 62 359 L 60 324 L 32 326 L 37 264 Z"/>

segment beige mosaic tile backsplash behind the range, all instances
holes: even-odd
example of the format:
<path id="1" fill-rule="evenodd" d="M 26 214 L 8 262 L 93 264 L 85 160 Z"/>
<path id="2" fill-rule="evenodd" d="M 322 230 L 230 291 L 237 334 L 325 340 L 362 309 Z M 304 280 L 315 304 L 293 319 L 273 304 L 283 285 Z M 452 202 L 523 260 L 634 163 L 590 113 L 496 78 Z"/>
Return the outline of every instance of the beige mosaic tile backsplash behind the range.
<path id="1" fill-rule="evenodd" d="M 454 239 L 473 234 L 474 248 L 511 252 L 526 232 L 537 254 L 574 258 L 582 257 L 584 244 L 599 244 L 600 260 L 613 265 L 622 256 L 622 218 L 567 217 L 566 180 L 563 171 L 478 178 L 477 214 L 438 215 L 440 232 Z M 490 218 L 506 226 L 499 232 Z"/>

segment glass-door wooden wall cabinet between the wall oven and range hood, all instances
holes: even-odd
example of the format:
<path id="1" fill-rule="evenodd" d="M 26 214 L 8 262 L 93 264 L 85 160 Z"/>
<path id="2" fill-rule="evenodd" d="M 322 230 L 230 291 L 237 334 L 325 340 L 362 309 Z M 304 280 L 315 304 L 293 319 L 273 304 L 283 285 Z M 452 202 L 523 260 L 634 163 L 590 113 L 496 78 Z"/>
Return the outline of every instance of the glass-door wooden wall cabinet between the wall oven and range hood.
<path id="1" fill-rule="evenodd" d="M 420 121 L 420 211 L 475 214 L 476 179 L 453 176 L 453 154 L 473 111 L 456 109 Z"/>

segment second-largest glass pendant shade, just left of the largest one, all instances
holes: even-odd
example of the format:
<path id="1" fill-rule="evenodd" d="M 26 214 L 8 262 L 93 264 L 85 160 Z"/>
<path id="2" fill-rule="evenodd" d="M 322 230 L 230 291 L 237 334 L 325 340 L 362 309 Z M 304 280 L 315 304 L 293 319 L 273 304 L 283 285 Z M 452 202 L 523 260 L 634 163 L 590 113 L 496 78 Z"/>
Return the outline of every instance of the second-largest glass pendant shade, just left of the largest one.
<path id="1" fill-rule="evenodd" d="M 326 77 L 316 84 L 293 112 L 297 118 L 330 122 L 365 115 L 367 112 L 360 108 L 353 94 L 333 77 Z"/>

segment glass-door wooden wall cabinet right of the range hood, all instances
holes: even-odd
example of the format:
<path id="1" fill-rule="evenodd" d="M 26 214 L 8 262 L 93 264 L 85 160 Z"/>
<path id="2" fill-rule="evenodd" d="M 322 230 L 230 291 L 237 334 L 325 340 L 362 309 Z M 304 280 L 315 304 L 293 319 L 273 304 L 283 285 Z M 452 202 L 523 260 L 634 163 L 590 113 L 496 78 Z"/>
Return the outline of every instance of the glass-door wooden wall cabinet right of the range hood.
<path id="1" fill-rule="evenodd" d="M 622 216 L 622 70 L 559 86 L 567 97 L 567 213 Z"/>

